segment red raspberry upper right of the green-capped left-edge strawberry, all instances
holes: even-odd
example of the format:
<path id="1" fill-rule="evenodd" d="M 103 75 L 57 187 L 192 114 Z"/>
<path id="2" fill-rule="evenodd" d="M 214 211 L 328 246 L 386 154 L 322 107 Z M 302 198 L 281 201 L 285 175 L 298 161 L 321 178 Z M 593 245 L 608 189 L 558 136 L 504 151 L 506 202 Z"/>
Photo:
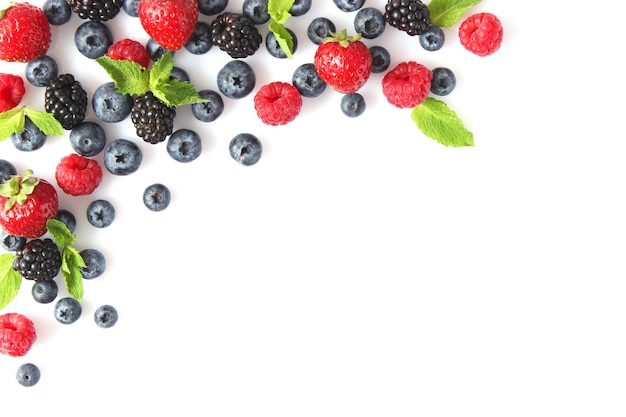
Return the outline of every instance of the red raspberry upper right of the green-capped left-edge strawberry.
<path id="1" fill-rule="evenodd" d="M 102 168 L 95 159 L 70 154 L 61 158 L 55 173 L 57 184 L 69 195 L 91 194 L 102 181 Z"/>

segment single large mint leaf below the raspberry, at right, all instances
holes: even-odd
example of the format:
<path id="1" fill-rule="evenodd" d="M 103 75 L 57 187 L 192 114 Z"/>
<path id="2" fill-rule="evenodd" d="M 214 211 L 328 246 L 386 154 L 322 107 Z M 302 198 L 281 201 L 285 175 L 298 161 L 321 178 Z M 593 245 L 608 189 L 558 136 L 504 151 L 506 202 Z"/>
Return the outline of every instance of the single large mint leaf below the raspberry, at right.
<path id="1" fill-rule="evenodd" d="M 456 113 L 443 101 L 426 97 L 426 100 L 413 108 L 411 118 L 426 136 L 442 145 L 474 146 L 472 132 L 463 126 Z"/>

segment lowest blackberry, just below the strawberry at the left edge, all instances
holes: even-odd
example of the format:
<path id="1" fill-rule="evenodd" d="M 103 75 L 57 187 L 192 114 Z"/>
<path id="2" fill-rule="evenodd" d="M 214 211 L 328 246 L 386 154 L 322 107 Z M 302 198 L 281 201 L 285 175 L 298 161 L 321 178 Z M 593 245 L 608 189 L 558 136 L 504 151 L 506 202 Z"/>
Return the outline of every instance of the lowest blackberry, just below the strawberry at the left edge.
<path id="1" fill-rule="evenodd" d="M 50 281 L 61 269 L 61 251 L 54 240 L 32 239 L 15 252 L 13 269 L 34 281 Z"/>

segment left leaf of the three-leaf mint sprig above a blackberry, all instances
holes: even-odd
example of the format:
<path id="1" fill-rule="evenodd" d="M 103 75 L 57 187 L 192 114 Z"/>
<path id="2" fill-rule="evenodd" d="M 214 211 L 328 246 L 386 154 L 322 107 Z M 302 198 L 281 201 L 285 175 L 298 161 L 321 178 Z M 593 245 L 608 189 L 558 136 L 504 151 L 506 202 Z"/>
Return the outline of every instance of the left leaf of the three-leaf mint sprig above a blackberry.
<path id="1" fill-rule="evenodd" d="M 106 55 L 97 58 L 96 62 L 109 74 L 120 93 L 132 96 L 150 90 L 150 75 L 138 63 L 111 59 Z"/>

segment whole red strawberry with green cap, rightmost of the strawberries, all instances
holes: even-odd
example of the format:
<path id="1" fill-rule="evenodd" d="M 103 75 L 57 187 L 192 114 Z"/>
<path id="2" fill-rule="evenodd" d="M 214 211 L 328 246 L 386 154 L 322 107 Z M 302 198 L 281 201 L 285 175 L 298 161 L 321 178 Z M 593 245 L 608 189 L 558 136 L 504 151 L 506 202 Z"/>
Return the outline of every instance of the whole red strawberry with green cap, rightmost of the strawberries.
<path id="1" fill-rule="evenodd" d="M 314 65 L 320 78 L 343 94 L 361 88 L 372 73 L 372 55 L 361 35 L 340 33 L 322 40 L 315 51 Z"/>

